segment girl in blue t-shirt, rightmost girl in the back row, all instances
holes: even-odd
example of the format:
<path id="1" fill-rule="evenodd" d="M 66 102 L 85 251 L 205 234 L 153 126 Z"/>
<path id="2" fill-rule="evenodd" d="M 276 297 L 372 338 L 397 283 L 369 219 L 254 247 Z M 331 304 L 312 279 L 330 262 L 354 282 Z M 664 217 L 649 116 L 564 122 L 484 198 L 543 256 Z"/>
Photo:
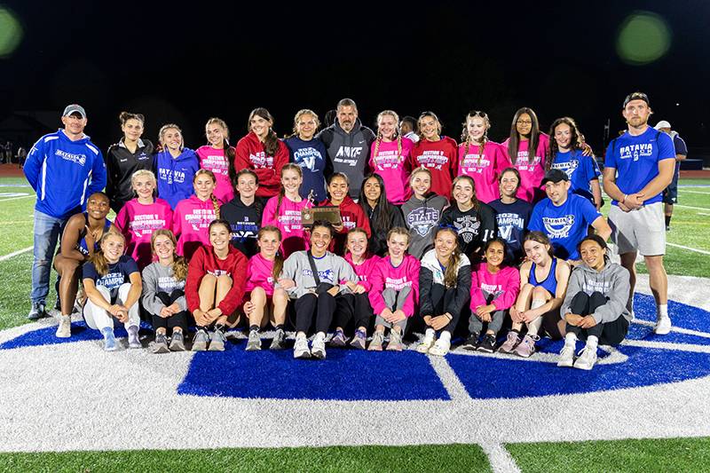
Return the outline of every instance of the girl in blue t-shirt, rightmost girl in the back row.
<path id="1" fill-rule="evenodd" d="M 545 166 L 549 169 L 562 169 L 570 177 L 570 192 L 577 193 L 591 201 L 596 209 L 602 207 L 602 188 L 599 177 L 602 172 L 593 155 L 583 153 L 587 146 L 583 143 L 577 123 L 568 116 L 556 119 L 549 129 L 552 138 L 549 156 Z"/>

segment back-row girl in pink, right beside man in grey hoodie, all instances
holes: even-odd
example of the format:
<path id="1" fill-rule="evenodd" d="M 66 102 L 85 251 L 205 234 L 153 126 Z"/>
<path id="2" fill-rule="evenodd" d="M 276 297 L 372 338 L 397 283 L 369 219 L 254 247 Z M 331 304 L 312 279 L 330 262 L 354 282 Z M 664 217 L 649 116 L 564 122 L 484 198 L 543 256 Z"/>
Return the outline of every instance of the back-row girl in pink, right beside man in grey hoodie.
<path id="1" fill-rule="evenodd" d="M 414 143 L 399 133 L 399 116 L 392 110 L 377 115 L 377 139 L 370 151 L 370 169 L 383 177 L 388 200 L 402 205 L 409 198 L 409 156 Z"/>

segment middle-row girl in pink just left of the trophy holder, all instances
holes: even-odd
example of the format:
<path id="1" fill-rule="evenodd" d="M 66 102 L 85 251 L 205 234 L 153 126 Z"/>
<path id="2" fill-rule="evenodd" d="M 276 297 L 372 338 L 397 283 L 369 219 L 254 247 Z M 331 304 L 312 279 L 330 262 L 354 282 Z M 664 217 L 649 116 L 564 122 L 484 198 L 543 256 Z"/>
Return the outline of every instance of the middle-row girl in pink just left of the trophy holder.
<path id="1" fill-rule="evenodd" d="M 261 225 L 272 225 L 281 232 L 281 253 L 288 258 L 291 253 L 307 249 L 307 237 L 301 225 L 301 209 L 311 208 L 311 201 L 301 197 L 298 189 L 304 183 L 301 167 L 289 162 L 281 169 L 281 190 L 266 202 Z"/>

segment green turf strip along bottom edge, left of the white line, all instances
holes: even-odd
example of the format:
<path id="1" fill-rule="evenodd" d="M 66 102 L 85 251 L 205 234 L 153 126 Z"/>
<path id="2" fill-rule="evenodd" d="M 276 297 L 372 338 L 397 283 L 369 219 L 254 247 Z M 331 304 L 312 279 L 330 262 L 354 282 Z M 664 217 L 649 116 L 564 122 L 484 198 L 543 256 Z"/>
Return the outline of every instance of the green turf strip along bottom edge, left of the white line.
<path id="1" fill-rule="evenodd" d="M 317 420 L 316 420 L 317 422 Z M 343 422 L 345 422 L 343 420 Z M 314 425 L 314 428 L 318 428 Z M 195 432 L 195 435 L 200 435 Z M 3 471 L 491 471 L 478 445 L 0 453 Z"/>

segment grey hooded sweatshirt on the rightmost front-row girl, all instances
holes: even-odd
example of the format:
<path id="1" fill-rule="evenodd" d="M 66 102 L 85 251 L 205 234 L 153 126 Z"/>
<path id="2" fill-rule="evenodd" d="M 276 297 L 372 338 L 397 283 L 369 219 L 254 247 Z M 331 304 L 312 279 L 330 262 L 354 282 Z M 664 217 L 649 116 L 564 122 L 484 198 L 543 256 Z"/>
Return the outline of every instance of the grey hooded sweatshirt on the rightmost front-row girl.
<path id="1" fill-rule="evenodd" d="M 629 322 L 633 318 L 627 310 L 628 294 L 631 290 L 628 270 L 620 264 L 611 263 L 608 259 L 601 272 L 590 268 L 587 264 L 580 264 L 570 275 L 570 282 L 567 285 L 567 294 L 564 296 L 564 303 L 560 308 L 560 314 L 570 313 L 572 298 L 579 292 L 584 292 L 591 296 L 593 292 L 601 292 L 609 300 L 606 304 L 600 305 L 594 311 L 592 317 L 597 324 L 613 322 L 619 317 L 627 319 Z M 588 314 L 578 314 L 588 315 Z"/>

